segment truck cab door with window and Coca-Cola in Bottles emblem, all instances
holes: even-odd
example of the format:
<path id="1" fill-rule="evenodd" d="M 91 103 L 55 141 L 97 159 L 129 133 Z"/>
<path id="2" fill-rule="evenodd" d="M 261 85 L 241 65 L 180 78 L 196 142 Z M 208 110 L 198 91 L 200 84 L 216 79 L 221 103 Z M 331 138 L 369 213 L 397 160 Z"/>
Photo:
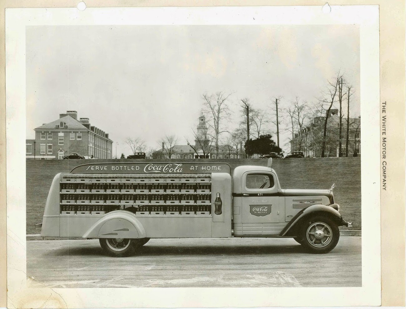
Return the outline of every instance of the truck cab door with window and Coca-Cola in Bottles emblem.
<path id="1" fill-rule="evenodd" d="M 240 195 L 242 236 L 275 235 L 286 225 L 284 211 L 280 213 L 281 205 L 285 206 L 284 197 L 279 193 L 275 179 L 271 172 L 243 174 Z"/>

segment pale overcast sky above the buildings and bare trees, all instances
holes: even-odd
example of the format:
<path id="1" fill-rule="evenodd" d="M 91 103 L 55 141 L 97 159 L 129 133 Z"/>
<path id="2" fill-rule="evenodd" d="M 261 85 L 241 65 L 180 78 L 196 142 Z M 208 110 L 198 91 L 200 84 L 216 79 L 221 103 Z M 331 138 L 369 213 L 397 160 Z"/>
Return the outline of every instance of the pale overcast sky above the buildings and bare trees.
<path id="1" fill-rule="evenodd" d="M 30 26 L 26 28 L 27 138 L 67 110 L 110 134 L 117 155 L 127 137 L 149 146 L 174 134 L 192 138 L 203 93 L 233 92 L 273 115 L 296 97 L 313 105 L 338 71 L 356 90 L 360 115 L 358 26 Z M 275 128 L 270 125 L 269 129 Z M 289 133 L 281 136 L 282 148 Z M 225 137 L 225 135 L 224 135 Z M 276 140 L 276 136 L 274 136 Z"/>

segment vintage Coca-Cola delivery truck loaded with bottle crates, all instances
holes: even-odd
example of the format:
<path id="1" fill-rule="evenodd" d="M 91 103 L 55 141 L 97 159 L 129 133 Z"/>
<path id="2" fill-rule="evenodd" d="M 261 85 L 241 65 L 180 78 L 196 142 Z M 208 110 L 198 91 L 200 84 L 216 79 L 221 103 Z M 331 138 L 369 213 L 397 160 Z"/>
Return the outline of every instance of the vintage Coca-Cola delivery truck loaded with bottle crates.
<path id="1" fill-rule="evenodd" d="M 106 254 L 134 254 L 150 238 L 294 238 L 311 253 L 339 241 L 333 187 L 282 189 L 268 166 L 227 163 L 91 163 L 59 173 L 41 236 L 98 238 Z"/>

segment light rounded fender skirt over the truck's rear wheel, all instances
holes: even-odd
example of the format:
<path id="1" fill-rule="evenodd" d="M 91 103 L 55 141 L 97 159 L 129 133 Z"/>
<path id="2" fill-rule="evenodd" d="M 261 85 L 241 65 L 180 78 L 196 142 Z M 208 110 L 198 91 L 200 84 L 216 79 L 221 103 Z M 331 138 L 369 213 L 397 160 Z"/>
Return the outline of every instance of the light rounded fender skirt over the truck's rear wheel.
<path id="1" fill-rule="evenodd" d="M 130 211 L 114 210 L 104 215 L 83 238 L 145 238 L 145 229 Z"/>

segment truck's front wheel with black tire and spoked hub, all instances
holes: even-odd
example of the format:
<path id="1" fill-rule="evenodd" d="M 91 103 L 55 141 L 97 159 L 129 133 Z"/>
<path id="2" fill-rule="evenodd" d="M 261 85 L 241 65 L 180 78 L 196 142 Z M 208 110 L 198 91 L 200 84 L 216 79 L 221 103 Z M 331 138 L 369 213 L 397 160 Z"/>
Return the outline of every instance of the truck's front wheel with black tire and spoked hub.
<path id="1" fill-rule="evenodd" d="M 337 224 L 325 217 L 305 220 L 300 228 L 302 247 L 310 253 L 328 253 L 340 238 Z"/>

